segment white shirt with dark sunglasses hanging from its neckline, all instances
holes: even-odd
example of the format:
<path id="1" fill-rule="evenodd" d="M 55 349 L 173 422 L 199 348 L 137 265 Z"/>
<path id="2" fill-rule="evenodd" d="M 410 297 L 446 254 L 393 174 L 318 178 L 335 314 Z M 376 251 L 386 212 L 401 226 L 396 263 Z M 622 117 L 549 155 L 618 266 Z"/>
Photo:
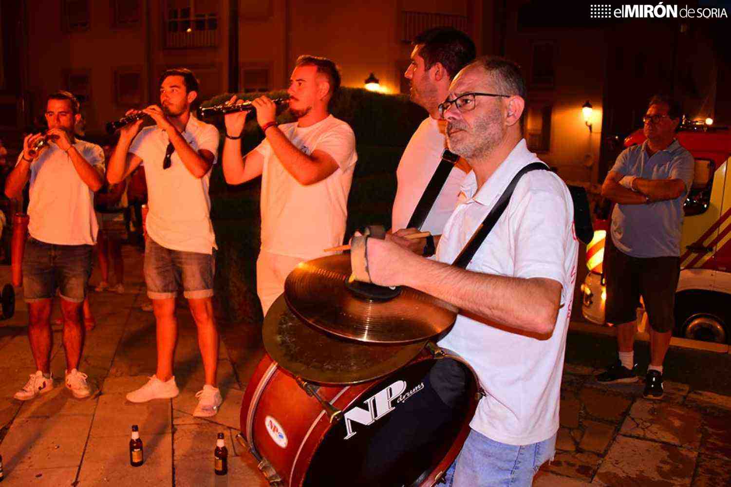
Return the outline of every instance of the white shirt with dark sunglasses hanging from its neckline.
<path id="1" fill-rule="evenodd" d="M 219 148 L 219 131 L 194 116 L 181 134 L 194 151 L 205 149 L 213 154 Z M 166 249 L 211 254 L 216 248 L 216 235 L 211 224 L 211 197 L 208 196 L 209 170 L 196 178 L 183 165 L 178 152 L 173 152 L 172 165 L 162 168 L 170 137 L 159 127 L 145 127 L 137 134 L 129 152 L 143 159 L 149 213 L 147 233 Z"/>

